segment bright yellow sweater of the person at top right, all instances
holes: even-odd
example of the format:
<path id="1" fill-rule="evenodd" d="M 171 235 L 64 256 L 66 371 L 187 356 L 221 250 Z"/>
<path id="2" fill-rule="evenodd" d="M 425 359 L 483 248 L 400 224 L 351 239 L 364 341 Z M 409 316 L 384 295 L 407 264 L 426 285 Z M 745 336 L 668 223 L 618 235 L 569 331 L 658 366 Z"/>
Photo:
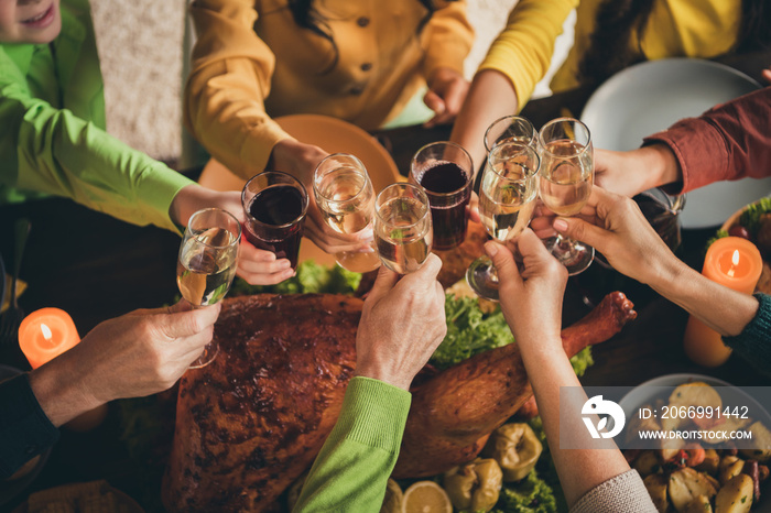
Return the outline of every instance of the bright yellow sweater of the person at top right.
<path id="1" fill-rule="evenodd" d="M 574 46 L 551 83 L 554 92 L 577 87 L 578 64 L 589 47 L 602 1 L 520 0 L 479 68 L 508 76 L 521 109 L 549 69 L 565 18 L 578 7 Z M 630 33 L 629 46 L 648 61 L 714 57 L 736 44 L 740 17 L 740 0 L 656 0 L 642 35 L 637 30 Z"/>

